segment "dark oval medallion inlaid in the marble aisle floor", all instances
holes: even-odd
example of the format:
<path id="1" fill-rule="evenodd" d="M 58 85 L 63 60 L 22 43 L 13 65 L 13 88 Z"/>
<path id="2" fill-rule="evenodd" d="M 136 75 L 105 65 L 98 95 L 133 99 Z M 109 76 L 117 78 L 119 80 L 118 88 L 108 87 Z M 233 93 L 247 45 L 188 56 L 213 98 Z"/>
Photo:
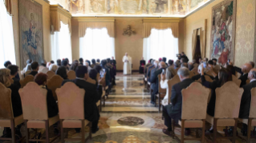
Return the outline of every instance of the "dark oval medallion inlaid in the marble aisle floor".
<path id="1" fill-rule="evenodd" d="M 144 120 L 140 117 L 121 117 L 117 120 L 117 123 L 120 125 L 136 126 L 143 125 Z"/>

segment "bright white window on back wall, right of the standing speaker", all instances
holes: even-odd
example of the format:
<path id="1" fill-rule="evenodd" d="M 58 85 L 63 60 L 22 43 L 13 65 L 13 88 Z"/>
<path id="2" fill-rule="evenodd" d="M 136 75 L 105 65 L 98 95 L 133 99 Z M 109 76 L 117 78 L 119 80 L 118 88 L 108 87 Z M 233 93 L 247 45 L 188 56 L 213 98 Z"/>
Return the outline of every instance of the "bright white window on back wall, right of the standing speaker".
<path id="1" fill-rule="evenodd" d="M 143 56 L 147 61 L 163 57 L 175 60 L 178 52 L 178 38 L 173 37 L 171 29 L 152 29 L 150 36 L 143 40 Z"/>

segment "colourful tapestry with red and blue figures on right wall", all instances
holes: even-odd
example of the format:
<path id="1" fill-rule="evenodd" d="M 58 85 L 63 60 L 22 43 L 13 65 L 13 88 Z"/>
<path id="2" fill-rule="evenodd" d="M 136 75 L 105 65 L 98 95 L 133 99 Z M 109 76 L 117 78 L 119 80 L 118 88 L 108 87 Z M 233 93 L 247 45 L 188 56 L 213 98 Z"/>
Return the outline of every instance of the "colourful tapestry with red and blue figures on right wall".
<path id="1" fill-rule="evenodd" d="M 236 0 L 226 0 L 213 6 L 210 55 L 221 65 L 229 59 L 234 62 L 235 20 Z"/>

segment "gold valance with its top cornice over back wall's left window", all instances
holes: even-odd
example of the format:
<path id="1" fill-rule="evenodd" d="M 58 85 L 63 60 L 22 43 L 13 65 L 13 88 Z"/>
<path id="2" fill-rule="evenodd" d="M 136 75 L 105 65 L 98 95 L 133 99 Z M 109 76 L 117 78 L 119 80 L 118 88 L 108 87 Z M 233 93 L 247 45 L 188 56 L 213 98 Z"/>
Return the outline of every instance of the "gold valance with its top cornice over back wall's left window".
<path id="1" fill-rule="evenodd" d="M 115 19 L 114 18 L 79 18 L 79 38 L 83 38 L 87 28 L 102 29 L 107 28 L 108 35 L 115 38 Z"/>

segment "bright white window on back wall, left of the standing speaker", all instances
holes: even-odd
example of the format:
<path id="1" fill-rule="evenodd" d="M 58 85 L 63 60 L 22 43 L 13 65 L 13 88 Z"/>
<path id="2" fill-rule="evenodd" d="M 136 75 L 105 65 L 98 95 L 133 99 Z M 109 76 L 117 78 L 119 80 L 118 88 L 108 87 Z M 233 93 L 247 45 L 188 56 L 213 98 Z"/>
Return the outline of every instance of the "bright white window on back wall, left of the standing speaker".
<path id="1" fill-rule="evenodd" d="M 108 35 L 108 30 L 87 28 L 86 34 L 80 41 L 80 58 L 91 60 L 92 58 L 115 57 L 115 38 Z"/>

